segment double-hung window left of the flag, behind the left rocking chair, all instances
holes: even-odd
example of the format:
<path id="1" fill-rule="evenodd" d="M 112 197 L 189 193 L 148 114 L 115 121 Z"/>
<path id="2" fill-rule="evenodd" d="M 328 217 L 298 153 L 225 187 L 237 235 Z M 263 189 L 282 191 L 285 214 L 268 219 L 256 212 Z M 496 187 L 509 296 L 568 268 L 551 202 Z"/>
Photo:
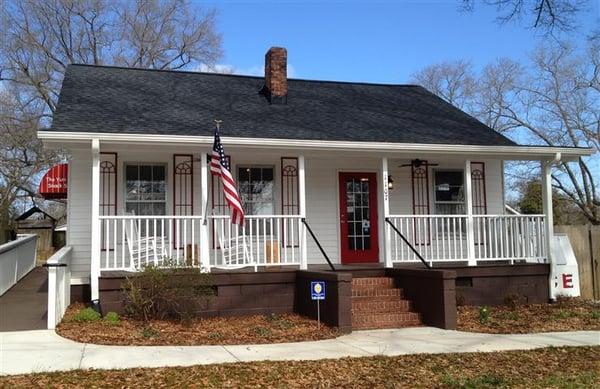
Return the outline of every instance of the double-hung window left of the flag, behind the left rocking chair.
<path id="1" fill-rule="evenodd" d="M 166 166 L 126 164 L 125 212 L 134 215 L 165 215 L 166 210 Z"/>

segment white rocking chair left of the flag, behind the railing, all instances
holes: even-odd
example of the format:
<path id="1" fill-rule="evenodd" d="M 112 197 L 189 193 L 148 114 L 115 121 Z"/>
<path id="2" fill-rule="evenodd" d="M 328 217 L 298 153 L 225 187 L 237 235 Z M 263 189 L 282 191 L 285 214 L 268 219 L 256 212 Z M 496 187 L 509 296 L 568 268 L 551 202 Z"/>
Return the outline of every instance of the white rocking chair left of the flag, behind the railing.
<path id="1" fill-rule="evenodd" d="M 133 219 L 125 221 L 125 237 L 132 269 L 139 270 L 146 265 L 162 265 L 167 256 L 165 237 L 156 235 L 142 237 L 138 229 L 139 222 Z"/>

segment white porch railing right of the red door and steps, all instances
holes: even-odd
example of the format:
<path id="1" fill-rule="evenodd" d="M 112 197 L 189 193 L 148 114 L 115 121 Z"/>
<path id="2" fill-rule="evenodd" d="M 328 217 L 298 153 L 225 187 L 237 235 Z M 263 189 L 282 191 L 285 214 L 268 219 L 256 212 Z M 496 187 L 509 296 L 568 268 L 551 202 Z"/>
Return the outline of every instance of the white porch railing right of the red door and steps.
<path id="1" fill-rule="evenodd" d="M 467 215 L 391 215 L 388 219 L 426 261 L 469 261 Z M 473 259 L 544 262 L 544 222 L 543 215 L 473 215 Z M 391 238 L 392 262 L 419 261 L 395 231 L 386 236 Z"/>

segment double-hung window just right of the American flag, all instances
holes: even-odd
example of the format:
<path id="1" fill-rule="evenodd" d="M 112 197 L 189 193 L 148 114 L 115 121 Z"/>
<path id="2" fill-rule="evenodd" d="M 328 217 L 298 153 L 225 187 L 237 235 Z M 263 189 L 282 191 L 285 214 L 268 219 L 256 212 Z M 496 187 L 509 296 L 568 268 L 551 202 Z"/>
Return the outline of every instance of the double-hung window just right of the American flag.
<path id="1" fill-rule="evenodd" d="M 239 166 L 238 190 L 246 215 L 273 215 L 274 172 L 272 166 Z"/>

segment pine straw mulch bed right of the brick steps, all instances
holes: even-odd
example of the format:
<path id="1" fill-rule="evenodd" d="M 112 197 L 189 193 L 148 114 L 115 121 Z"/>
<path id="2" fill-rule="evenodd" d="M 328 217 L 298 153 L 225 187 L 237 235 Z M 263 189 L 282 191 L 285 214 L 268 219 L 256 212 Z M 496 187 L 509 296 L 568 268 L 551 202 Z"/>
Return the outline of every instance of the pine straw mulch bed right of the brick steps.
<path id="1" fill-rule="evenodd" d="M 600 330 L 600 301 L 560 298 L 553 304 L 487 307 L 487 320 L 480 319 L 481 308 L 458 307 L 457 329 L 491 334 Z"/>

